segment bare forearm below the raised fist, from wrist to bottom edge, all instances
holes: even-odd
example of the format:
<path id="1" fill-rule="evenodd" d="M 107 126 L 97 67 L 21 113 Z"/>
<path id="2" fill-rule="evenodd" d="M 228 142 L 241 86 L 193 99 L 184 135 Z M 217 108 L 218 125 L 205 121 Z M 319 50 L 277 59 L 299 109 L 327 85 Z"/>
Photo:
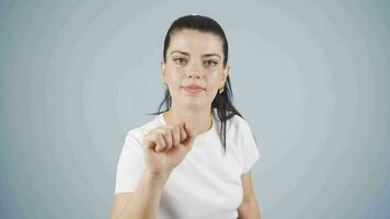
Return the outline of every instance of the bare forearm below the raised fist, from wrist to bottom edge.
<path id="1" fill-rule="evenodd" d="M 156 175 L 145 171 L 118 219 L 156 219 L 161 193 L 169 175 L 170 173 Z"/>

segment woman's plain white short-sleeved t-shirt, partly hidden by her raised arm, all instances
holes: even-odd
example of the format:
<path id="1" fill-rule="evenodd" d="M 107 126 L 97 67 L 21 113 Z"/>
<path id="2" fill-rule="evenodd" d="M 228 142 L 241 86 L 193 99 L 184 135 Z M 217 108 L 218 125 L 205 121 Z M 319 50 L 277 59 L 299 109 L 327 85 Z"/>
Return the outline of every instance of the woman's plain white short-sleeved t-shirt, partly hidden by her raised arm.
<path id="1" fill-rule="evenodd" d="M 167 124 L 159 114 L 131 129 L 117 163 L 116 193 L 134 192 L 146 166 L 142 138 Z M 231 219 L 238 217 L 243 191 L 241 175 L 260 158 L 249 124 L 238 115 L 227 120 L 227 153 L 219 138 L 220 120 L 214 112 L 213 127 L 197 136 L 193 148 L 172 171 L 161 194 L 158 219 Z"/>

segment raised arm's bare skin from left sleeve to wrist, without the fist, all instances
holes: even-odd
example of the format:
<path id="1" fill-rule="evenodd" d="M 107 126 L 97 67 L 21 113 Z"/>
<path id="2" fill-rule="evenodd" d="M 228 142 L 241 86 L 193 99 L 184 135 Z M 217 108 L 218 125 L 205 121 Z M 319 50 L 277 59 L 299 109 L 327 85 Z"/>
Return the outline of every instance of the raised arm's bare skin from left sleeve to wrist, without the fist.
<path id="1" fill-rule="evenodd" d="M 112 219 L 154 219 L 162 189 L 170 173 L 152 174 L 145 171 L 134 193 L 115 195 Z"/>

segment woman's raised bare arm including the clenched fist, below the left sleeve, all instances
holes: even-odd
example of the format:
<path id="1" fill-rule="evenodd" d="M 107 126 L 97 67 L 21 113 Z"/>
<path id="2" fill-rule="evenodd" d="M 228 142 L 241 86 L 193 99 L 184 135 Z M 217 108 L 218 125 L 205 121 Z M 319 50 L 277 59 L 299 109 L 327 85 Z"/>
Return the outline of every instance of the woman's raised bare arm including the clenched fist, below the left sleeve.
<path id="1" fill-rule="evenodd" d="M 172 172 L 191 150 L 195 136 L 184 124 L 163 125 L 145 137 L 146 171 L 135 192 L 115 195 L 112 219 L 154 219 L 162 191 Z"/>

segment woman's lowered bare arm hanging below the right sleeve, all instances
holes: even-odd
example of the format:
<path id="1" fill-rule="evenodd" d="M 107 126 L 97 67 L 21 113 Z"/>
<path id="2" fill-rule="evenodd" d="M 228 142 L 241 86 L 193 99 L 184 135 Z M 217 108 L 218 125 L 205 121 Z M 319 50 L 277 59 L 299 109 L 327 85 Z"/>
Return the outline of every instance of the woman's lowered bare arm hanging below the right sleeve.
<path id="1" fill-rule="evenodd" d="M 242 174 L 243 200 L 238 209 L 240 219 L 260 219 L 260 209 L 253 193 L 251 171 Z"/>

